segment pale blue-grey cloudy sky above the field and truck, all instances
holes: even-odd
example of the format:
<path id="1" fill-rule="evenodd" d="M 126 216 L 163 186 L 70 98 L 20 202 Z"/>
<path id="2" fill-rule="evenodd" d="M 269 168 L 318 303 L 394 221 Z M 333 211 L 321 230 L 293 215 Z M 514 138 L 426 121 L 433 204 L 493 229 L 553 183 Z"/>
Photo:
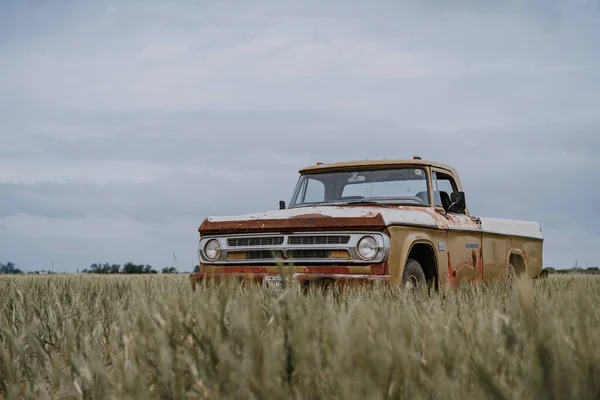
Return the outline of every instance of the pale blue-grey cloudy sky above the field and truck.
<path id="1" fill-rule="evenodd" d="M 0 262 L 197 262 L 316 161 L 454 165 L 600 264 L 598 1 L 0 2 Z"/>

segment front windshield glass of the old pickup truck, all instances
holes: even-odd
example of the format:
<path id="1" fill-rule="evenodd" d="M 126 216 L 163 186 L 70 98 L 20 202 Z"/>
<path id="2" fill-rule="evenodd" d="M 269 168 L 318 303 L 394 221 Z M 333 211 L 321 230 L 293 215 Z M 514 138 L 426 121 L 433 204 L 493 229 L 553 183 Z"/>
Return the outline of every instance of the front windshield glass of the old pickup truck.
<path id="1" fill-rule="evenodd" d="M 427 173 L 405 167 L 302 175 L 290 207 L 361 202 L 428 206 Z"/>

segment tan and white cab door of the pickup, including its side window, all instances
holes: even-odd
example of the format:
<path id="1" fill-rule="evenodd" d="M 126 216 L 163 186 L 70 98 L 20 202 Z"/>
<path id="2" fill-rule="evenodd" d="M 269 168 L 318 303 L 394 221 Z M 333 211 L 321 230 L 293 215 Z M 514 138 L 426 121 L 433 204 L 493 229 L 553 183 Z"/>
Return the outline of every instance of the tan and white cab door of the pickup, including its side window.
<path id="1" fill-rule="evenodd" d="M 437 213 L 444 215 L 448 230 L 445 251 L 447 253 L 447 282 L 458 287 L 465 283 L 477 283 L 483 279 L 483 231 L 476 218 L 466 211 L 446 213 L 452 192 L 459 191 L 451 174 L 442 169 L 432 169 L 434 204 Z"/>

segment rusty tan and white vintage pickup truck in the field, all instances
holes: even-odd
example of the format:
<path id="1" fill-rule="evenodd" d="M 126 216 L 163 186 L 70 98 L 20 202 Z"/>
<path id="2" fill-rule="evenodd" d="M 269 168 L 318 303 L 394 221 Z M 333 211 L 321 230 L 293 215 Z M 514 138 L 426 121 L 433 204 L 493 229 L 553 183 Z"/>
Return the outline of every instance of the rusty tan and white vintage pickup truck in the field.
<path id="1" fill-rule="evenodd" d="M 287 207 L 210 217 L 199 233 L 194 288 L 209 277 L 277 284 L 281 266 L 303 285 L 435 289 L 545 273 L 539 224 L 470 215 L 454 168 L 420 157 L 317 163 Z"/>

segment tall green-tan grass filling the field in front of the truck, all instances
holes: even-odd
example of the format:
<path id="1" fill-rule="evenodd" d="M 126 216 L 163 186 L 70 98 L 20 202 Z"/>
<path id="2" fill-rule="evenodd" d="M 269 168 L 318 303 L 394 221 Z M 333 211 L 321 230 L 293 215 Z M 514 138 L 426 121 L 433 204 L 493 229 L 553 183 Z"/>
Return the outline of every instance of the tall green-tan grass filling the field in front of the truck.
<path id="1" fill-rule="evenodd" d="M 337 297 L 0 278 L 0 398 L 600 398 L 600 279 Z"/>

